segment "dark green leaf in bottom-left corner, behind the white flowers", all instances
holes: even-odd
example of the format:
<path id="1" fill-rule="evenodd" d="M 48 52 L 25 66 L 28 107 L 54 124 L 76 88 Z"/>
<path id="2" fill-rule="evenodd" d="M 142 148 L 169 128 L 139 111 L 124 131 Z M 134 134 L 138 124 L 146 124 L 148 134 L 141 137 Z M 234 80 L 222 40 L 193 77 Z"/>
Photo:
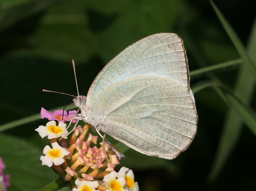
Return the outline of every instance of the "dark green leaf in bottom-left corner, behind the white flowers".
<path id="1" fill-rule="evenodd" d="M 8 191 L 37 190 L 57 177 L 51 168 L 42 166 L 39 159 L 43 151 L 12 136 L 0 134 L 0 140 L 0 156 L 6 164 L 4 172 L 11 176 Z"/>

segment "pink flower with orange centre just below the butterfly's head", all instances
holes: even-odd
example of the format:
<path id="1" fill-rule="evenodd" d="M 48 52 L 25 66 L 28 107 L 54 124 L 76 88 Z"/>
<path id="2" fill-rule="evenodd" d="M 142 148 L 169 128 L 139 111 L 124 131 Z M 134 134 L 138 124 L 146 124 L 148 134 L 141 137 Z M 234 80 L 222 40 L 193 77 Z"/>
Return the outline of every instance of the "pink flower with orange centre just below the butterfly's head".
<path id="1" fill-rule="evenodd" d="M 76 116 L 76 110 L 67 112 L 66 110 L 60 109 L 52 113 L 43 107 L 41 108 L 41 119 L 47 118 L 48 120 L 57 120 L 63 123 L 72 120 L 72 123 L 76 123 L 77 119 L 74 118 Z"/>

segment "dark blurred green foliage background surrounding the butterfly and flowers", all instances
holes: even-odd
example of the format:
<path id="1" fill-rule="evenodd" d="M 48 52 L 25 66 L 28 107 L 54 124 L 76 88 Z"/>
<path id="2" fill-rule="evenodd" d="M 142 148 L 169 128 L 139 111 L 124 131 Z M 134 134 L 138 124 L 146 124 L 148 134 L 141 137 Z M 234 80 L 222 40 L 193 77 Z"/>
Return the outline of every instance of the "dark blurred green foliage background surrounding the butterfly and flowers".
<path id="1" fill-rule="evenodd" d="M 254 1 L 214 3 L 255 66 Z M 232 35 L 227 35 L 209 1 L 2 0 L 0 156 L 7 166 L 5 172 L 11 174 L 9 191 L 37 190 L 57 177 L 52 169 L 41 166 L 39 158 L 48 141 L 34 131 L 45 124 L 35 114 L 41 107 L 65 106 L 72 99 L 42 89 L 76 95 L 74 59 L 80 93 L 86 95 L 111 58 L 159 32 L 174 32 L 184 40 L 198 133 L 175 160 L 128 150 L 121 165 L 134 171 L 141 191 L 255 188 L 256 142 L 251 127 L 255 126 L 255 76 L 239 52 L 243 47 L 237 48 L 230 40 Z M 219 68 L 211 69 L 219 63 Z"/>

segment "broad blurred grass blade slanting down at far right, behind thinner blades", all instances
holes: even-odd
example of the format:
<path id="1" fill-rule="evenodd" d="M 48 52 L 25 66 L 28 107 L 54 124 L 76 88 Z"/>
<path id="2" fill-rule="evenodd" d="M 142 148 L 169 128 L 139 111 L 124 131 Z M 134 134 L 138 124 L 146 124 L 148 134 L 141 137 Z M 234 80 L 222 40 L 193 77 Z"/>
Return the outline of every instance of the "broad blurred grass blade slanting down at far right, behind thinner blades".
<path id="1" fill-rule="evenodd" d="M 251 36 L 249 39 L 250 40 L 248 51 L 252 60 L 255 62 L 256 20 L 254 21 Z M 253 96 L 253 92 L 255 89 L 254 77 L 255 76 L 251 75 L 250 67 L 247 67 L 247 65 L 241 66 L 241 69 L 239 70 L 239 74 L 237 77 L 234 92 L 236 92 L 236 95 L 238 95 L 239 98 L 243 100 L 245 105 L 249 105 L 250 100 L 252 99 Z M 241 119 L 241 115 L 237 114 L 237 111 L 235 111 L 233 107 L 230 107 L 226 116 L 226 120 L 224 122 L 223 132 L 221 133 L 215 159 L 213 161 L 211 171 L 208 175 L 208 180 L 210 182 L 214 181 L 224 168 L 224 164 L 228 160 L 230 153 L 232 152 L 237 142 L 239 141 L 240 133 L 243 127 L 242 125 L 243 122 Z"/>

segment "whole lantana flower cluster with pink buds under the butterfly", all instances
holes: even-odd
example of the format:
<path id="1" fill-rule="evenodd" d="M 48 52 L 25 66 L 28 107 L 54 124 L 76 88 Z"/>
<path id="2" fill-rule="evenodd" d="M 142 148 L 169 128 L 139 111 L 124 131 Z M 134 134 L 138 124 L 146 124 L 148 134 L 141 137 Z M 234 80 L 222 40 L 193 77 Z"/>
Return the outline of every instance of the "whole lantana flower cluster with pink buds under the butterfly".
<path id="1" fill-rule="evenodd" d="M 51 147 L 43 149 L 42 165 L 53 167 L 72 191 L 139 191 L 132 170 L 122 167 L 118 173 L 115 171 L 122 154 L 107 140 L 97 147 L 98 136 L 88 133 L 90 125 L 76 126 L 79 120 L 76 113 L 75 110 L 51 113 L 42 107 L 41 118 L 50 121 L 35 131 L 51 142 Z M 75 127 L 68 132 L 65 122 L 74 123 Z"/>

